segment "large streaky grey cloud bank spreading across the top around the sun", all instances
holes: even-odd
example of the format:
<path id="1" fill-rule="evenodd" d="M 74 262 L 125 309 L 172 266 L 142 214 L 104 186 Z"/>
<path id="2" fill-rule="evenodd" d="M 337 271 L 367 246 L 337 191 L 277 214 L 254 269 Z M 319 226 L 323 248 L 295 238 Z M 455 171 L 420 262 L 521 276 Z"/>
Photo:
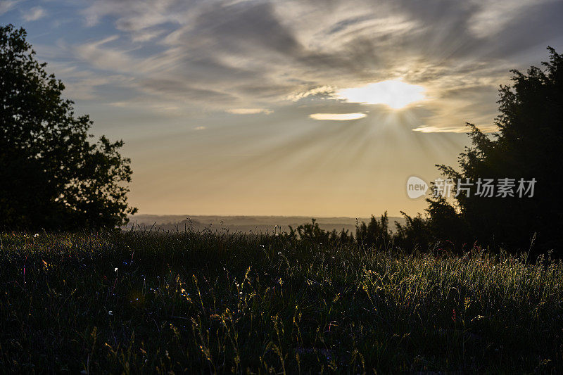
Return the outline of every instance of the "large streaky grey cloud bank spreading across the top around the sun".
<path id="1" fill-rule="evenodd" d="M 322 101 L 345 112 L 338 106 L 357 98 L 344 90 L 403 80 L 427 89 L 424 125 L 448 128 L 490 122 L 495 100 L 486 101 L 514 56 L 561 40 L 563 27 L 542 23 L 557 13 L 542 10 L 555 0 L 539 1 L 94 0 L 82 15 L 107 23 L 110 37 L 75 53 L 103 74 L 130 77 L 132 97 L 219 111 Z M 540 12 L 526 20 L 533 32 L 514 36 L 531 10 Z"/>

